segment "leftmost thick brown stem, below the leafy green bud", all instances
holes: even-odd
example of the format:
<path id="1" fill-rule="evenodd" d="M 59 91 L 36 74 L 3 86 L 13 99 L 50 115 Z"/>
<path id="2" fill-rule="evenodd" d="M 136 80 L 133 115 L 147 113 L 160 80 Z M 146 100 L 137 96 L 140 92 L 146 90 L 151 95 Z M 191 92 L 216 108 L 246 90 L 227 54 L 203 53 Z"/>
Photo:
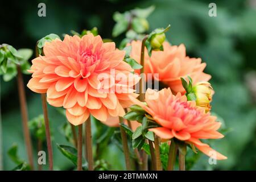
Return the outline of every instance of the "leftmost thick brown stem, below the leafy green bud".
<path id="1" fill-rule="evenodd" d="M 19 93 L 20 111 L 22 115 L 23 134 L 24 134 L 24 139 L 25 139 L 26 148 L 27 148 L 28 163 L 30 164 L 31 170 L 34 170 L 30 130 L 28 129 L 28 124 L 27 124 L 28 115 L 27 115 L 26 94 L 24 90 L 22 70 L 19 65 L 17 65 L 17 72 L 18 72 L 18 93 Z"/>

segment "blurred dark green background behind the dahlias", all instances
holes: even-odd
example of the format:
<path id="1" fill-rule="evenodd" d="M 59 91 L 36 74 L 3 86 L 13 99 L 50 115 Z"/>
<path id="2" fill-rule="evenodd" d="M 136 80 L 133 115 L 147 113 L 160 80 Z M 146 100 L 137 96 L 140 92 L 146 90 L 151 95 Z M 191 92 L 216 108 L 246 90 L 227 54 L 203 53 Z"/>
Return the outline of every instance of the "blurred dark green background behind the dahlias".
<path id="1" fill-rule="evenodd" d="M 40 2 L 46 3 L 46 17 L 38 16 Z M 201 155 L 192 169 L 255 170 L 256 0 L 214 1 L 217 17 L 208 15 L 210 2 L 213 1 L 1 1 L 0 44 L 34 49 L 36 41 L 47 34 L 61 36 L 69 34 L 70 30 L 81 32 L 92 27 L 98 27 L 102 38 L 112 39 L 115 11 L 122 13 L 135 7 L 155 5 L 154 13 L 148 17 L 150 30 L 171 24 L 167 32 L 171 44 L 184 43 L 189 56 L 202 57 L 207 63 L 205 72 L 212 75 L 210 82 L 216 91 L 212 110 L 230 129 L 225 138 L 212 144 L 214 149 L 228 156 L 228 160 L 209 165 L 208 158 Z M 122 36 L 113 40 L 118 43 Z M 29 78 L 24 76 L 24 82 Z M 31 119 L 42 112 L 42 106 L 39 94 L 28 88 L 26 93 Z M 15 79 L 4 82 L 1 77 L 1 105 L 3 166 L 10 170 L 15 164 L 7 156 L 7 150 L 13 143 L 18 144 L 20 158 L 26 159 Z M 50 106 L 49 118 L 55 169 L 72 169 L 73 164 L 56 147 L 56 143 L 68 144 L 60 131 L 65 118 Z M 36 141 L 33 142 L 36 151 Z M 34 158 L 36 162 L 37 156 Z M 105 149 L 102 158 L 108 159 L 110 169 L 124 169 L 123 154 L 114 144 Z"/>

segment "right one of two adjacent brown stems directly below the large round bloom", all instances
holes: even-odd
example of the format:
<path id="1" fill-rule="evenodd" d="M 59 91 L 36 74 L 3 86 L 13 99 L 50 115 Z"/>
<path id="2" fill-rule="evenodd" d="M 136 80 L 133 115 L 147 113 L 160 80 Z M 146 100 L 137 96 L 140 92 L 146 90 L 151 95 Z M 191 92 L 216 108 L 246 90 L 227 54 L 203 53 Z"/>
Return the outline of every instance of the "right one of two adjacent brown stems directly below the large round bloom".
<path id="1" fill-rule="evenodd" d="M 85 139 L 86 139 L 86 159 L 88 161 L 88 170 L 93 171 L 93 145 L 92 145 L 92 126 L 90 117 L 85 122 Z"/>

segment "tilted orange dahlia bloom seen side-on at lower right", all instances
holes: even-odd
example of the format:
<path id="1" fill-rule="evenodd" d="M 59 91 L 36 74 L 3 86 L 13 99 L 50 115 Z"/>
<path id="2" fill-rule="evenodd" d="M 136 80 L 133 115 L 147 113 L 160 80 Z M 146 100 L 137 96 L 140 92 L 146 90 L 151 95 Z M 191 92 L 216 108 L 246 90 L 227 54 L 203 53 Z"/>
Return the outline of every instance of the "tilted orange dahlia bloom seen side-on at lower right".
<path id="1" fill-rule="evenodd" d="M 187 101 L 187 97 L 181 96 L 180 93 L 174 96 L 170 88 L 159 92 L 147 89 L 145 97 L 147 105 L 136 98 L 131 100 L 141 106 L 161 126 L 149 129 L 150 131 L 165 140 L 176 138 L 193 144 L 201 152 L 217 160 L 226 159 L 226 156 L 200 141 L 224 137 L 217 131 L 221 123 L 216 122 L 216 117 L 210 113 L 205 113 L 204 107 L 196 106 L 195 101 Z"/>

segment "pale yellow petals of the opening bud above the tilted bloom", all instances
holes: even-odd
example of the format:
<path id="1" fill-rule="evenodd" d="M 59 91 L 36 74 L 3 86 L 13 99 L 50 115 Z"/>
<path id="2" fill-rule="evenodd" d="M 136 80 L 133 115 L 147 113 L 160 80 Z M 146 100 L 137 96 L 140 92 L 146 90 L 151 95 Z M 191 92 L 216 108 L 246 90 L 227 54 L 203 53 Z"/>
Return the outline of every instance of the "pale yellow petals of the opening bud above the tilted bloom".
<path id="1" fill-rule="evenodd" d="M 197 84 L 193 86 L 193 93 L 196 95 L 196 105 L 205 107 L 205 110 L 209 111 L 211 107 L 210 102 L 214 94 L 210 83 L 206 81 L 197 82 Z"/>

